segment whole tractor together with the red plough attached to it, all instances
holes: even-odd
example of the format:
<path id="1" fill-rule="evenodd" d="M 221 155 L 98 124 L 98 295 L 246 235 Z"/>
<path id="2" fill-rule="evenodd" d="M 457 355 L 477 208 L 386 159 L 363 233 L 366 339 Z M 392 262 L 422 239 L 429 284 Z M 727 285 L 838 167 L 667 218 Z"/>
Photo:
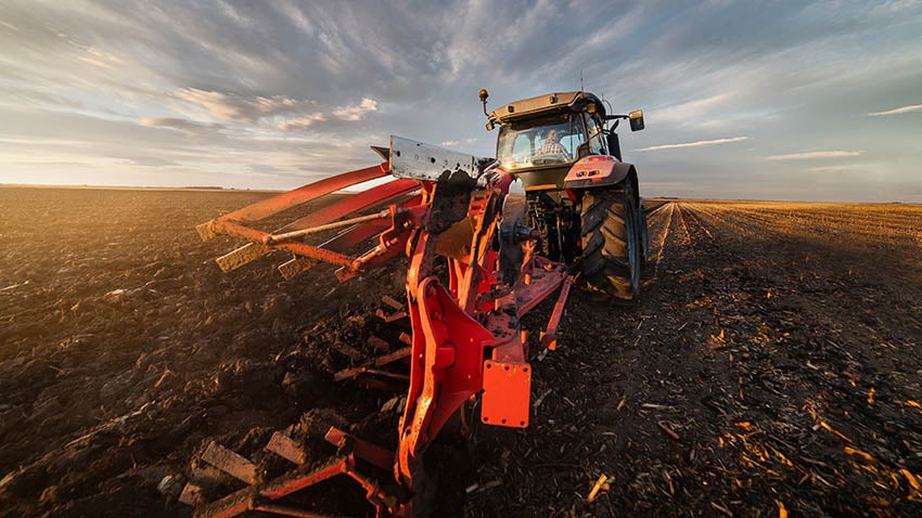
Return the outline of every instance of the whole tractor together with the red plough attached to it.
<path id="1" fill-rule="evenodd" d="M 481 91 L 485 113 L 486 99 Z M 444 428 L 464 427 L 474 406 L 483 424 L 528 426 L 534 351 L 522 316 L 558 294 L 540 339 L 532 340 L 552 350 L 571 285 L 580 274 L 590 288 L 618 301 L 638 298 L 645 220 L 637 172 L 620 160 L 613 130 L 622 118 L 632 130 L 643 129 L 642 114 L 606 115 L 596 95 L 567 92 L 510 103 L 488 118 L 487 128 L 500 126 L 496 159 L 392 137 L 389 148 L 373 147 L 384 158 L 377 166 L 199 225 L 203 239 L 231 234 L 249 241 L 217 259 L 225 271 L 283 251 L 292 255 L 279 267 L 286 279 L 325 261 L 338 264 L 336 276 L 346 281 L 406 254 L 406 312 L 386 322 L 406 319 L 411 335 L 377 358 L 334 373 L 334 379 L 406 379 L 397 444 L 382 448 L 329 427 L 322 430 L 325 439 L 340 450 L 322 463 L 309 458 L 297 437 L 277 432 L 266 450 L 299 466 L 272 475 L 212 443 L 202 461 L 247 487 L 208 502 L 191 480 L 180 500 L 195 505 L 196 516 L 248 510 L 318 516 L 294 494 L 340 475 L 363 488 L 379 516 L 424 511 L 422 458 Z M 611 120 L 615 124 L 605 129 Z M 341 193 L 388 176 L 394 179 L 387 183 L 350 196 Z M 256 229 L 260 220 L 326 195 L 331 203 L 281 229 Z M 366 252 L 348 252 L 368 241 L 373 246 Z M 390 474 L 384 476 L 389 483 L 379 483 L 382 474 Z"/>

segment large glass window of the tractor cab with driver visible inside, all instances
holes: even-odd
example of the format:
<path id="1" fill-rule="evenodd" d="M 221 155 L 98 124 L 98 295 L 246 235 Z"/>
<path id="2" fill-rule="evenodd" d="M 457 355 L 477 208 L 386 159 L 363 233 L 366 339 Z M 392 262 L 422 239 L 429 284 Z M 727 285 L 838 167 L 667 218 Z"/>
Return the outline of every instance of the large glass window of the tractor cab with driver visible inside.
<path id="1" fill-rule="evenodd" d="M 512 124 L 499 130 L 497 159 L 507 171 L 567 164 L 577 158 L 585 141 L 580 114 L 572 114 L 564 122 L 554 117 Z"/>

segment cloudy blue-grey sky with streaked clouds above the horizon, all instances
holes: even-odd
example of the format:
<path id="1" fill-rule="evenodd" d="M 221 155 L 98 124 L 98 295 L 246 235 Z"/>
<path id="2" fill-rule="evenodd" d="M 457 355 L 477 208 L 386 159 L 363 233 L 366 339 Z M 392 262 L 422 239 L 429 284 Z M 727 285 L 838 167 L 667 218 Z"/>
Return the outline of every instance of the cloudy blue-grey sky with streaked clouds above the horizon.
<path id="1" fill-rule="evenodd" d="M 0 183 L 287 190 L 388 135 L 494 156 L 582 88 L 645 196 L 922 203 L 922 1 L 0 2 Z"/>

